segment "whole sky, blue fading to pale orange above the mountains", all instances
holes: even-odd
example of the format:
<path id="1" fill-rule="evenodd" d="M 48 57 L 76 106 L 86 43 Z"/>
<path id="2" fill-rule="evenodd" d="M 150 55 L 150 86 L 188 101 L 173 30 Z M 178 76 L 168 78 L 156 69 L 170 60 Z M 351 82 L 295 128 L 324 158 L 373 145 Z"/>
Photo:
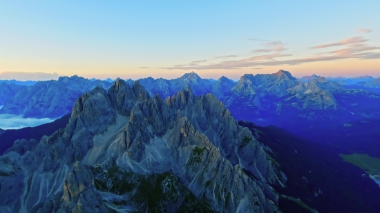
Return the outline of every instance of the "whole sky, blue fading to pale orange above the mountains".
<path id="1" fill-rule="evenodd" d="M 0 1 L 0 79 L 380 77 L 380 1 Z M 39 72 L 39 73 L 31 73 Z M 44 74 L 46 73 L 46 74 Z"/>

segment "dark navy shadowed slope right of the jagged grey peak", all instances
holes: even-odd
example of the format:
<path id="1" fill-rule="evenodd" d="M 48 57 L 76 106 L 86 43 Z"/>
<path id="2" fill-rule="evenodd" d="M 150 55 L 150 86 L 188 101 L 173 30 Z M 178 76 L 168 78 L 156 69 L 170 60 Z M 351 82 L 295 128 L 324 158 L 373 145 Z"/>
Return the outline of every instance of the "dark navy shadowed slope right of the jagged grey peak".
<path id="1" fill-rule="evenodd" d="M 360 168 L 345 163 L 341 150 L 313 143 L 274 126 L 260 127 L 239 121 L 260 143 L 272 149 L 273 163 L 287 176 L 286 187 L 274 186 L 282 195 L 301 199 L 296 203 L 281 198 L 283 212 L 379 212 L 380 187 Z"/>

